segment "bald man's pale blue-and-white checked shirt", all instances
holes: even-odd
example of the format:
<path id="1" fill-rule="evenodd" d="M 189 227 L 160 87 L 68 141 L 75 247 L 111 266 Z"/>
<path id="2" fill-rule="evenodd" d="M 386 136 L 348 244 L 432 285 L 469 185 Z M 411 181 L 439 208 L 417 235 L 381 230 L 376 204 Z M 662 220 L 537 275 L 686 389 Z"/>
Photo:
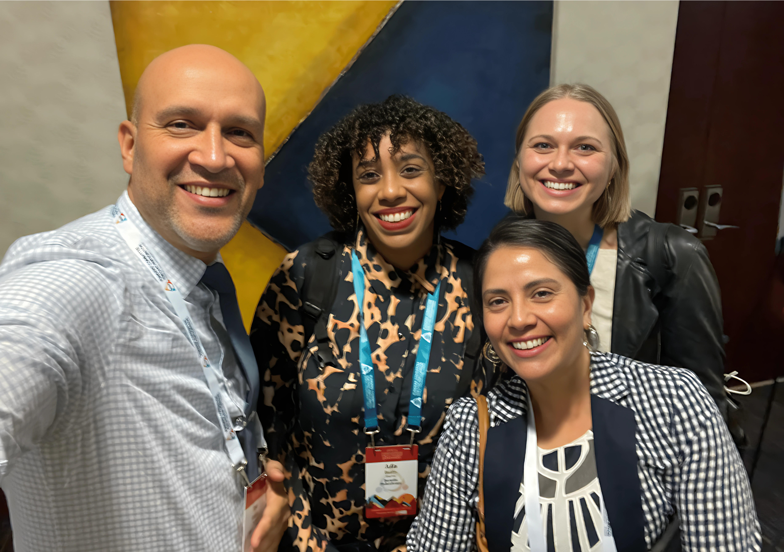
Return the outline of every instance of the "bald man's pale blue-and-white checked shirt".
<path id="1" fill-rule="evenodd" d="M 142 220 L 240 416 L 247 383 L 205 264 Z M 110 208 L 22 238 L 0 265 L 0 485 L 16 552 L 241 547 L 232 474 L 201 365 Z"/>

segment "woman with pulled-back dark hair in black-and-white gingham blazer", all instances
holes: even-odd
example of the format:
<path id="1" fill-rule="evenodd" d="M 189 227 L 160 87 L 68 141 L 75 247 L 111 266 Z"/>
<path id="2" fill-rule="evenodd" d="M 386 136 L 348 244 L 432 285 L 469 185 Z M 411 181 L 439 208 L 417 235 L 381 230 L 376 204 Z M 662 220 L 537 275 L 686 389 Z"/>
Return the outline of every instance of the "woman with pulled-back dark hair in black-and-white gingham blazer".
<path id="1" fill-rule="evenodd" d="M 568 231 L 503 220 L 474 286 L 485 354 L 508 368 L 487 396 L 488 550 L 760 550 L 746 470 L 694 373 L 593 350 L 590 271 Z M 479 475 L 477 401 L 460 398 L 408 552 L 476 550 Z"/>

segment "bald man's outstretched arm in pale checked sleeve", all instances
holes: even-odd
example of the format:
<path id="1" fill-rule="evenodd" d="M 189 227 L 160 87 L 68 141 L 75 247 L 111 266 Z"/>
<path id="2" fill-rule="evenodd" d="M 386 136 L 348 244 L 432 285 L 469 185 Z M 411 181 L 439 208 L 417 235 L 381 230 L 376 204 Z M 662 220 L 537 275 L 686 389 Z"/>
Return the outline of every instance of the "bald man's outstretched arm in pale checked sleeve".
<path id="1" fill-rule="evenodd" d="M 85 359 L 106 359 L 122 308 L 103 270 L 31 263 L 0 278 L 0 482 L 82 395 Z"/>

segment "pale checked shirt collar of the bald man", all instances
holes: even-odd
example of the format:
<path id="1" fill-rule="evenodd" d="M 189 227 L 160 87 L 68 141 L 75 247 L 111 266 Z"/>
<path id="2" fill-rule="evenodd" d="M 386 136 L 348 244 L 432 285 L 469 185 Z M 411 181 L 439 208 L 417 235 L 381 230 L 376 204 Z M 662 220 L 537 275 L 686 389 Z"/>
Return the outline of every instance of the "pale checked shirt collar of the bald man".
<path id="1" fill-rule="evenodd" d="M 158 264 L 165 271 L 166 277 L 180 289 L 183 297 L 187 297 L 191 290 L 198 285 L 199 280 L 204 275 L 204 271 L 207 269 L 207 265 L 196 257 L 180 251 L 180 249 L 170 244 L 169 241 L 166 241 L 161 234 L 154 231 L 147 224 L 147 221 L 143 219 L 139 209 L 136 209 L 136 205 L 133 205 L 128 191 L 123 192 L 120 196 L 117 207 L 139 230 L 142 241 L 147 245 L 148 249 L 154 252 L 155 259 L 158 260 Z M 220 255 L 216 262 L 223 263 Z"/>

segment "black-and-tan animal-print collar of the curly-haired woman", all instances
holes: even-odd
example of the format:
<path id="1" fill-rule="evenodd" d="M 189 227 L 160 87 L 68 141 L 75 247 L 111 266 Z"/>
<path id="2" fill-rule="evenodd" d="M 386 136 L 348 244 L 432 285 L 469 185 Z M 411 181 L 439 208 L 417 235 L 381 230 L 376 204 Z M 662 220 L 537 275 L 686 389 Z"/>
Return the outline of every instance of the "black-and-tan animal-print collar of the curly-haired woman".
<path id="1" fill-rule="evenodd" d="M 434 244 L 430 252 L 416 261 L 408 271 L 398 270 L 388 263 L 373 247 L 365 234 L 364 227 L 360 227 L 357 231 L 354 250 L 371 281 L 382 281 L 389 289 L 396 288 L 401 284 L 402 278 L 406 278 L 412 284 L 418 284 L 428 293 L 432 293 L 438 282 L 449 275 L 448 268 L 444 266 L 446 248 L 440 244 Z"/>

